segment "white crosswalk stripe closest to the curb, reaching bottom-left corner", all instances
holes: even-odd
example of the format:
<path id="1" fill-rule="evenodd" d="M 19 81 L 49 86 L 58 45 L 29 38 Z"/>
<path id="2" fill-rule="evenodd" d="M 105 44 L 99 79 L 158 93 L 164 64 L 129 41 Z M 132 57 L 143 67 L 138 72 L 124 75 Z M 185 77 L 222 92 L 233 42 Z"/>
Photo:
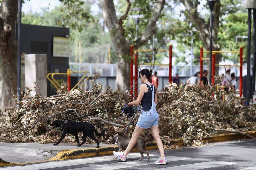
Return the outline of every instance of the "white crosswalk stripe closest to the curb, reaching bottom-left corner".
<path id="1" fill-rule="evenodd" d="M 156 155 L 149 154 L 149 156 L 156 156 Z M 38 169 L 72 166 L 72 165 L 87 164 L 87 163 L 98 163 L 98 162 L 104 162 L 104 161 L 117 161 L 113 159 L 114 157 L 115 157 L 114 155 L 111 155 L 111 156 L 101 156 L 101 157 L 92 157 L 92 158 L 84 158 L 84 159 L 72 159 L 72 160 L 65 160 L 65 161 L 53 161 L 53 162 L 46 162 L 46 163 L 30 164 L 28 166 L 5 167 L 5 168 L 0 168 L 0 170 L 38 170 Z M 129 154 L 129 158 L 137 158 L 137 157 L 140 157 L 140 153 Z"/>

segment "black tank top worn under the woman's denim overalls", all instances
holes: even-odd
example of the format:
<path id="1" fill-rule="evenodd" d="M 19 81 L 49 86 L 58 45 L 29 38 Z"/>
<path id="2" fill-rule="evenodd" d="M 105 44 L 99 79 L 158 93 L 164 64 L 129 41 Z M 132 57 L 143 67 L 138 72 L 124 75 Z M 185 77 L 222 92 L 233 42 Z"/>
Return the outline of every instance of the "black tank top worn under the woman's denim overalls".
<path id="1" fill-rule="evenodd" d="M 151 88 L 149 87 L 149 84 L 145 83 L 148 87 L 148 91 L 146 93 L 144 93 L 140 103 L 142 106 L 142 110 L 144 111 L 149 111 L 151 109 L 151 105 L 152 105 L 152 91 L 151 88 L 153 90 L 153 84 L 150 85 Z M 154 87 L 154 96 L 156 96 L 156 88 Z"/>

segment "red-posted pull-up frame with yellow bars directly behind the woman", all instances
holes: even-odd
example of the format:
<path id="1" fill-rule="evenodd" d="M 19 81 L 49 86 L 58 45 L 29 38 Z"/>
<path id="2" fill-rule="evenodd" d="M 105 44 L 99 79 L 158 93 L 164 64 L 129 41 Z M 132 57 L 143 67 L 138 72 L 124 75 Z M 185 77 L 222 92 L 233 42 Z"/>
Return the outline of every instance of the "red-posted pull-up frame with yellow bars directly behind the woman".
<path id="1" fill-rule="evenodd" d="M 169 49 L 133 49 L 133 45 L 130 47 L 130 95 L 133 100 L 133 64 L 134 67 L 134 97 L 137 98 L 138 94 L 138 52 L 139 51 L 169 51 L 169 64 L 155 64 L 155 63 L 139 63 L 139 65 L 169 65 L 169 83 L 172 82 L 172 45 L 169 46 Z M 134 62 L 133 62 L 134 61 Z"/>

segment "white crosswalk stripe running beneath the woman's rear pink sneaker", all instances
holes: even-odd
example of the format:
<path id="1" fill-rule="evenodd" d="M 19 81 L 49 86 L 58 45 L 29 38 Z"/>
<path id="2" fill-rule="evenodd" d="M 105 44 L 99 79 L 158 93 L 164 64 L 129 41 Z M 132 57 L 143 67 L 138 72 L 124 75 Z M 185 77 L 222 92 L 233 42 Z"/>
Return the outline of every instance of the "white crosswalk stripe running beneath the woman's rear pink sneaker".
<path id="1" fill-rule="evenodd" d="M 129 156 L 130 158 L 130 156 Z M 187 157 L 178 157 L 178 156 L 166 156 L 168 162 L 172 161 L 179 161 L 179 160 L 186 160 L 186 159 L 192 159 L 192 158 L 187 158 Z M 128 168 L 128 167 L 134 167 L 134 166 L 141 166 L 141 165 L 149 165 L 153 164 L 154 161 L 157 161 L 159 158 L 153 158 L 147 161 L 147 159 L 143 159 L 140 162 L 139 161 L 127 161 L 127 162 L 115 162 L 107 165 L 95 165 L 95 166 L 90 166 L 88 167 L 90 170 L 113 170 L 113 169 L 119 169 L 119 168 Z M 84 170 L 83 168 L 75 168 L 75 169 L 70 169 L 70 170 Z"/>

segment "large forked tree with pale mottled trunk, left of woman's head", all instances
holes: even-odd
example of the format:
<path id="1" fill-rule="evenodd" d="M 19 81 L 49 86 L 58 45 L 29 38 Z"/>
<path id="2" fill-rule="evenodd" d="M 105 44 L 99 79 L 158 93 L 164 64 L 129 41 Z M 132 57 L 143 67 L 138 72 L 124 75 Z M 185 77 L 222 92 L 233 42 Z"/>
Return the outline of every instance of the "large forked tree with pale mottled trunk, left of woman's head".
<path id="1" fill-rule="evenodd" d="M 117 59 L 117 75 L 116 82 L 117 87 L 126 91 L 129 87 L 129 79 L 127 78 L 130 72 L 129 68 L 129 54 L 130 54 L 130 45 L 133 43 L 128 40 L 125 36 L 125 30 L 123 27 L 123 21 L 128 16 L 130 11 L 131 3 L 129 0 L 126 0 L 127 7 L 125 13 L 121 17 L 117 17 L 115 5 L 113 0 L 103 0 L 102 10 L 103 18 L 106 27 L 110 32 L 110 37 L 114 44 L 118 59 Z M 145 31 L 142 35 L 135 41 L 134 48 L 137 49 L 141 45 L 145 44 L 153 34 L 156 32 L 156 22 L 161 17 L 161 13 L 165 4 L 165 0 L 159 0 L 155 9 L 148 20 Z"/>

